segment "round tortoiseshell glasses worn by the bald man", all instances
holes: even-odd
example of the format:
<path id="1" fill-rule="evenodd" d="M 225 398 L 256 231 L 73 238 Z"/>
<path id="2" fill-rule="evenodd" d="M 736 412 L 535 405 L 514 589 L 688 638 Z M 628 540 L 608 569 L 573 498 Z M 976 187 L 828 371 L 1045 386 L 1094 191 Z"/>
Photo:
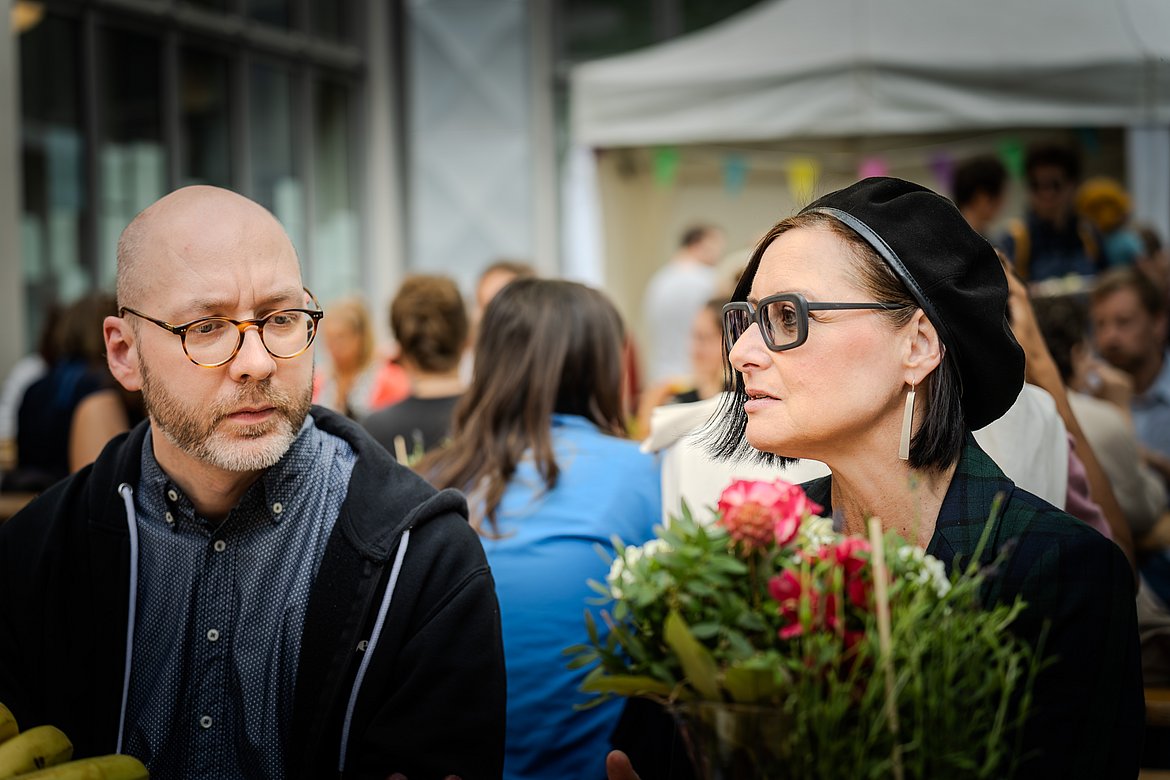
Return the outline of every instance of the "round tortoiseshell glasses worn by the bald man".
<path id="1" fill-rule="evenodd" d="M 325 316 L 317 298 L 308 289 L 305 292 L 316 309 L 281 309 L 254 319 L 200 317 L 190 323 L 172 325 L 129 306 L 119 309 L 118 316 L 131 313 L 174 333 L 183 341 L 187 359 L 197 366 L 215 368 L 229 363 L 243 346 L 245 331 L 253 326 L 260 331 L 260 343 L 268 350 L 268 354 L 287 360 L 309 348 L 317 334 L 317 323 Z"/>

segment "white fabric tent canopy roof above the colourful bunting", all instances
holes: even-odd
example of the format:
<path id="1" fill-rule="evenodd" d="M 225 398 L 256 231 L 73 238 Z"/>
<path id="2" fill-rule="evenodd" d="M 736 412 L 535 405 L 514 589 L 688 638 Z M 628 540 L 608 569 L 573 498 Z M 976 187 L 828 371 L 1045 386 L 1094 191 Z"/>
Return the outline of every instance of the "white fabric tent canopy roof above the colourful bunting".
<path id="1" fill-rule="evenodd" d="M 1166 0 L 771 0 L 572 73 L 594 147 L 1168 124 Z"/>

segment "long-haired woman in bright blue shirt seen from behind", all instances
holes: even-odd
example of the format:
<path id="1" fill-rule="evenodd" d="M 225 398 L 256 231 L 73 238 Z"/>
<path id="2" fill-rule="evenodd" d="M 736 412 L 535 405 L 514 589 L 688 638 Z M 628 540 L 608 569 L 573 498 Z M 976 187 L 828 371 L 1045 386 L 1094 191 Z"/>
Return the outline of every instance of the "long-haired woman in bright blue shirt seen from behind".
<path id="1" fill-rule="evenodd" d="M 435 486 L 468 493 L 495 577 L 504 778 L 605 775 L 621 703 L 574 709 L 589 699 L 586 670 L 569 670 L 563 650 L 587 640 L 587 581 L 610 568 L 599 551 L 647 541 L 659 519 L 658 462 L 625 439 L 621 345 L 621 318 L 597 290 L 509 283 L 484 311 L 452 441 L 419 464 Z"/>

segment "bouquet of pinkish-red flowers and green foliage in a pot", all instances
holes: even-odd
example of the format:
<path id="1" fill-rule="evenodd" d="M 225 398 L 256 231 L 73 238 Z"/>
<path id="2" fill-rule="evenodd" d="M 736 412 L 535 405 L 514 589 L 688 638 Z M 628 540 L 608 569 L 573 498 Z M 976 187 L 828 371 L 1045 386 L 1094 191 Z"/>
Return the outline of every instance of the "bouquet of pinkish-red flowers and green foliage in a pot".
<path id="1" fill-rule="evenodd" d="M 713 523 L 617 546 L 583 690 L 663 703 L 706 778 L 1006 778 L 1039 655 L 975 565 L 870 520 L 845 537 L 783 481 L 735 482 Z M 975 557 L 978 560 L 978 555 Z"/>

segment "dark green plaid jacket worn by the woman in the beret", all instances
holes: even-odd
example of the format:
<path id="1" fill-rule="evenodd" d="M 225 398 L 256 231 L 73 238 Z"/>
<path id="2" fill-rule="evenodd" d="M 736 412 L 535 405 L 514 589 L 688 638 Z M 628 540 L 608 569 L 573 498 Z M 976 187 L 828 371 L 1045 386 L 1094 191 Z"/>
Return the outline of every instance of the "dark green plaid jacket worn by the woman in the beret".
<path id="1" fill-rule="evenodd" d="M 832 477 L 805 484 L 832 511 Z M 1134 575 L 1114 543 L 1071 515 L 1017 488 L 966 435 L 927 552 L 950 567 L 970 562 L 991 516 L 984 565 L 989 602 L 1021 595 L 1016 630 L 1058 661 L 1037 681 L 1021 778 L 1136 778 L 1145 709 Z"/>

